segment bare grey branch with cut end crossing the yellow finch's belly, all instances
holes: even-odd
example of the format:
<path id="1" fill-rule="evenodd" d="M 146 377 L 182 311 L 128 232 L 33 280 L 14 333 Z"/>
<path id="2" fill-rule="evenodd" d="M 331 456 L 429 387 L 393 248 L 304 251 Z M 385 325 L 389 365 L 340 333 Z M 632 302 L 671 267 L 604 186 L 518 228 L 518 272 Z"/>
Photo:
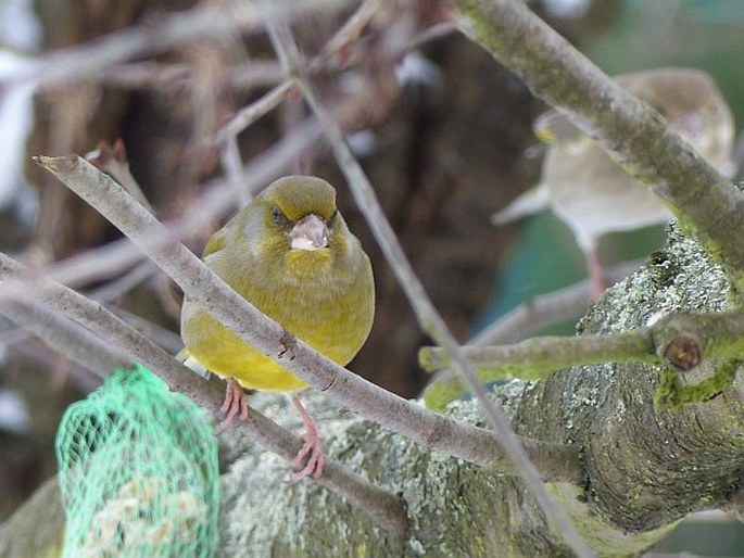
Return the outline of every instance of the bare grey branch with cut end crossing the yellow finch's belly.
<path id="1" fill-rule="evenodd" d="M 186 246 L 168 237 L 165 227 L 109 175 L 100 173 L 77 155 L 42 156 L 36 157 L 36 161 L 127 234 L 189 297 L 245 342 L 312 388 L 323 391 L 335 403 L 427 447 L 481 467 L 514 470 L 502 447 L 501 437 L 494 432 L 429 413 L 415 403 L 378 388 L 318 354 L 258 312 Z M 151 238 L 153 234 L 171 240 L 167 243 L 154 243 Z M 3 296 L 8 291 L 11 289 L 3 290 Z M 564 482 L 580 482 L 583 478 L 576 448 L 519 436 L 517 440 L 529 457 L 540 464 L 539 478 Z"/>

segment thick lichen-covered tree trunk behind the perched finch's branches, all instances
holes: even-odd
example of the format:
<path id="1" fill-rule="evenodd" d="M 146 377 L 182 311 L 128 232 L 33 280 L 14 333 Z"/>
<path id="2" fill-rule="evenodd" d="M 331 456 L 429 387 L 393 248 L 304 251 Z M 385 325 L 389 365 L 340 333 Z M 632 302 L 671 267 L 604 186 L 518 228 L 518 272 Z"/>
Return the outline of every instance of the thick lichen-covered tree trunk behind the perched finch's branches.
<path id="1" fill-rule="evenodd" d="M 672 226 L 667 248 L 611 288 L 578 330 L 627 331 L 657 312 L 721 312 L 729 308 L 727 293 L 720 268 Z M 690 381 L 710 373 L 702 366 Z M 604 556 L 643 550 L 685 515 L 726 505 L 739 485 L 741 379 L 706 403 L 657 414 L 658 381 L 658 367 L 609 364 L 560 370 L 544 381 L 514 380 L 494 393 L 517 433 L 582 448 L 585 485 L 548 489 Z M 409 532 L 389 536 L 323 487 L 288 483 L 286 466 L 258 449 L 223 478 L 223 556 L 247 549 L 273 556 L 569 555 L 520 479 L 432 453 L 308 397 L 313 413 L 329 418 L 321 429 L 330 456 L 400 494 Z M 447 413 L 484 423 L 469 401 L 451 404 Z"/>

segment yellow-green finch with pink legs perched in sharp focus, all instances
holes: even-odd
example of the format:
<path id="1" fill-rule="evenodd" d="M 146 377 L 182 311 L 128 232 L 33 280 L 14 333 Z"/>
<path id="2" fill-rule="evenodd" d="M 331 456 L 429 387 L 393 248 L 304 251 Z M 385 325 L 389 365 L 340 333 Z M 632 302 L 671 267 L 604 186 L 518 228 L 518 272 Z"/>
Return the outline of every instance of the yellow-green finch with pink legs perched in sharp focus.
<path id="1" fill-rule="evenodd" d="M 320 178 L 288 176 L 273 182 L 212 236 L 202 259 L 238 294 L 341 366 L 369 334 L 375 313 L 369 258 L 336 207 L 336 190 Z M 228 380 L 224 427 L 238 414 L 248 416 L 242 388 L 292 392 L 307 386 L 188 296 L 181 337 L 191 359 Z M 320 437 L 294 395 L 292 403 L 307 426 L 293 465 L 310 454 L 293 479 L 319 477 Z"/>

